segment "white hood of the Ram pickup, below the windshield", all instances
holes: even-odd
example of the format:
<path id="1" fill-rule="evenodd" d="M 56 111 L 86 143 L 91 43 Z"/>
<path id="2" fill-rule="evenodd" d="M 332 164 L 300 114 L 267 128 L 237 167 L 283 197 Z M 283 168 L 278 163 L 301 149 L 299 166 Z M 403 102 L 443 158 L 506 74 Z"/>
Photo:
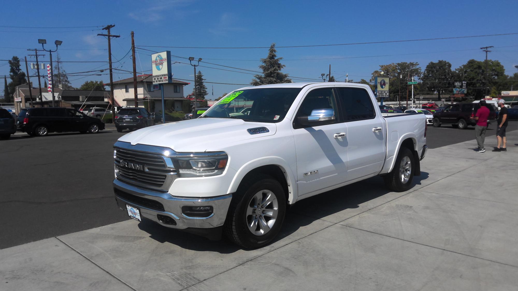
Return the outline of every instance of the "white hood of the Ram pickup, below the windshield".
<path id="1" fill-rule="evenodd" d="M 247 129 L 266 127 L 268 133 L 250 134 Z M 240 119 L 197 118 L 141 128 L 119 141 L 167 147 L 177 152 L 221 151 L 236 141 L 274 135 L 275 123 L 247 122 Z"/>

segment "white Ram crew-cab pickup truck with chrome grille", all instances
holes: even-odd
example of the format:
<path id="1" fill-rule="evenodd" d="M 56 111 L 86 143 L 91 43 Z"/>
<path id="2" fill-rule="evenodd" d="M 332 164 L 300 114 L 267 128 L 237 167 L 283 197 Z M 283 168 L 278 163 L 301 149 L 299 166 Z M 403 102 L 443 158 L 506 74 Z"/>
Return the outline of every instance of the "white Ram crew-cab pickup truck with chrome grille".
<path id="1" fill-rule="evenodd" d="M 408 190 L 426 149 L 424 114 L 382 117 L 367 85 L 251 86 L 119 138 L 113 188 L 136 220 L 258 248 L 300 199 L 373 176 Z"/>

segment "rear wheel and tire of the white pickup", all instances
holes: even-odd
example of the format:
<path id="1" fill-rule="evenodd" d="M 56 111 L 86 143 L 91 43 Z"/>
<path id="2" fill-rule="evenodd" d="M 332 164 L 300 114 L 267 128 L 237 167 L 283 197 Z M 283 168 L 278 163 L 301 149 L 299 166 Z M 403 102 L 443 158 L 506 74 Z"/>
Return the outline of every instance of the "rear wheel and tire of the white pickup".
<path id="1" fill-rule="evenodd" d="M 414 178 L 414 155 L 408 148 L 401 148 L 392 171 L 383 176 L 385 186 L 395 192 L 410 189 Z"/>

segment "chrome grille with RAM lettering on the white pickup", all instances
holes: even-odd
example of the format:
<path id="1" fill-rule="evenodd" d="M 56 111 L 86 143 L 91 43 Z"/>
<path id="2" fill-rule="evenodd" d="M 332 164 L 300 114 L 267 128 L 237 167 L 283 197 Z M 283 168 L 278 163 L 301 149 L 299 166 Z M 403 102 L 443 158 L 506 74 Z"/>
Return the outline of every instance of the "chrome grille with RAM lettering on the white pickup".
<path id="1" fill-rule="evenodd" d="M 172 181 L 177 178 L 176 169 L 172 167 L 168 157 L 128 149 L 114 150 L 115 173 L 117 178 L 124 182 L 167 191 Z"/>

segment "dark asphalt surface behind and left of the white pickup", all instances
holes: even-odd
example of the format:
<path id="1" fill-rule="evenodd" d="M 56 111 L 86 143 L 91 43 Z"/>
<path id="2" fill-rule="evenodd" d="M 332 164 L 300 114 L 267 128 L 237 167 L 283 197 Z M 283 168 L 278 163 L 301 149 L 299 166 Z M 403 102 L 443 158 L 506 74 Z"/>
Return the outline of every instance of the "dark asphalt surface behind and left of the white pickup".
<path id="1" fill-rule="evenodd" d="M 508 131 L 516 129 L 518 122 L 510 122 Z M 495 139 L 493 133 L 491 125 L 487 140 Z M 37 138 L 20 133 L 0 141 L 0 172 L 7 181 L 0 205 L 5 217 L 16 217 L 0 225 L 0 249 L 128 220 L 111 186 L 111 147 L 124 134 L 103 130 Z M 434 149 L 472 140 L 474 131 L 429 126 L 427 137 Z"/>

